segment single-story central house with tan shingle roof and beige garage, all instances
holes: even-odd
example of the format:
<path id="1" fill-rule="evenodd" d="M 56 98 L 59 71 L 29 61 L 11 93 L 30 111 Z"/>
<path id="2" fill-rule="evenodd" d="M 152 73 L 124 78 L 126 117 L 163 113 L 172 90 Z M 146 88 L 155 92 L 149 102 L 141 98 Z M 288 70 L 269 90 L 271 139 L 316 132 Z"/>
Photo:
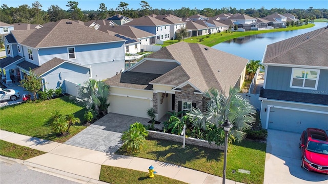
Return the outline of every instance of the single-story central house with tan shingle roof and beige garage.
<path id="1" fill-rule="evenodd" d="M 203 109 L 204 93 L 214 87 L 226 96 L 241 87 L 248 59 L 199 43 L 178 42 L 147 56 L 128 70 L 107 79 L 109 112 L 156 120 L 168 111 Z"/>

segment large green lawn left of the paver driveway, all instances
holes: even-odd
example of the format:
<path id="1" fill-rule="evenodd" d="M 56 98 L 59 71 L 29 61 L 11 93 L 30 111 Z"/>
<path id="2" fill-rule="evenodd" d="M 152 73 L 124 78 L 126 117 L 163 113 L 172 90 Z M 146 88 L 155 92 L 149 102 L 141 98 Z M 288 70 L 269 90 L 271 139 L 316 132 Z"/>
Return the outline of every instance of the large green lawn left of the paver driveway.
<path id="1" fill-rule="evenodd" d="M 73 125 L 69 130 L 69 135 L 57 137 L 49 127 L 51 113 L 56 109 L 62 114 L 73 113 L 81 122 L 84 122 L 84 107 L 76 105 L 74 101 L 64 96 L 39 103 L 22 103 L 2 107 L 0 109 L 0 128 L 59 143 L 67 141 L 70 137 L 86 128 L 81 125 Z"/>

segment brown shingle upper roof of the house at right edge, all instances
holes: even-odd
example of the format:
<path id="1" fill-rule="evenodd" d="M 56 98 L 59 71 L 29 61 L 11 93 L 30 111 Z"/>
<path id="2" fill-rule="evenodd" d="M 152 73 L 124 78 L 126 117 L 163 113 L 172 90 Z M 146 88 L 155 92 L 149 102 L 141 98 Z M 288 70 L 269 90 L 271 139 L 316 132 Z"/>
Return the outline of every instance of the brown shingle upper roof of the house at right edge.
<path id="1" fill-rule="evenodd" d="M 264 64 L 328 67 L 328 27 L 267 45 Z"/>

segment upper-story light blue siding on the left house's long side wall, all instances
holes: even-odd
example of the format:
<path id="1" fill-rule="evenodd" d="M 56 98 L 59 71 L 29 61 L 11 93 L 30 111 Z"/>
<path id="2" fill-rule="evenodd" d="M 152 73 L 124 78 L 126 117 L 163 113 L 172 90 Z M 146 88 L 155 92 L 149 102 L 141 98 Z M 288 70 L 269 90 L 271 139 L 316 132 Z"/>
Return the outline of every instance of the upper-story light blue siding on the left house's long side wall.
<path id="1" fill-rule="evenodd" d="M 108 62 L 114 60 L 124 60 L 124 42 L 76 45 L 75 58 L 69 59 L 68 47 L 39 49 L 40 63 L 43 64 L 54 57 L 67 61 L 79 63 L 81 65 L 91 65 L 94 63 Z"/>

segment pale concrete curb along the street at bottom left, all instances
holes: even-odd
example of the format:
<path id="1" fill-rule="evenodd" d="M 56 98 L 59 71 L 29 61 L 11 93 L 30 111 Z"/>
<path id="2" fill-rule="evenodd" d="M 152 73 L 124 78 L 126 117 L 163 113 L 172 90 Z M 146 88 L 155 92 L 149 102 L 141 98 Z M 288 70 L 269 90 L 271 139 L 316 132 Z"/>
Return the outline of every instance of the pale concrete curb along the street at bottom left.
<path id="1" fill-rule="evenodd" d="M 21 159 L 17 159 L 17 158 L 10 158 L 10 157 L 3 156 L 3 155 L 0 155 L 0 161 L 8 163 L 8 164 L 22 164 L 22 165 L 25 165 L 28 169 L 31 169 L 31 170 L 34 170 L 37 172 L 42 172 L 45 174 L 49 174 L 52 176 L 60 177 L 63 179 L 71 180 L 71 181 L 78 182 L 78 183 L 108 184 L 107 182 L 104 182 L 104 181 L 95 180 L 95 179 L 88 178 L 85 176 L 80 176 L 77 174 L 64 172 L 64 171 L 61 171 L 58 169 L 53 169 L 53 168 L 45 167 L 42 165 L 33 164 L 33 163 L 27 162 L 25 160 L 21 160 Z"/>

